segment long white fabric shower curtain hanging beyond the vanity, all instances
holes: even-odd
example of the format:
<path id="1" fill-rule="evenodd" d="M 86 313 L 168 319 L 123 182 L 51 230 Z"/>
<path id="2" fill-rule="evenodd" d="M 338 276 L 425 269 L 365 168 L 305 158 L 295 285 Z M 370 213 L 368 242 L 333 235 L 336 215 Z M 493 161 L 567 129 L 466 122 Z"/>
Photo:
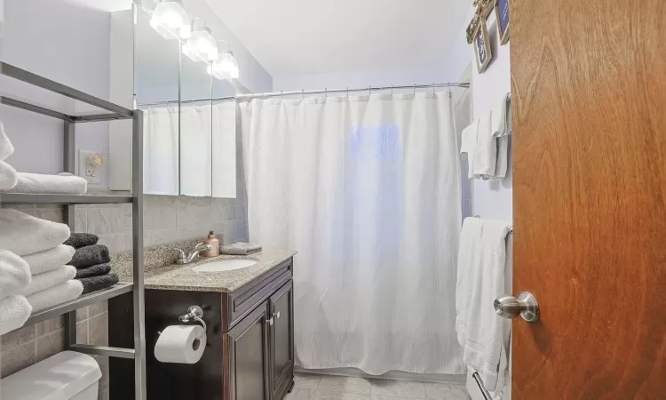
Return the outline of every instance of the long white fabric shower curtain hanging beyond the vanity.
<path id="1" fill-rule="evenodd" d="M 241 110 L 250 241 L 298 252 L 297 364 L 463 373 L 448 92 L 253 100 Z"/>

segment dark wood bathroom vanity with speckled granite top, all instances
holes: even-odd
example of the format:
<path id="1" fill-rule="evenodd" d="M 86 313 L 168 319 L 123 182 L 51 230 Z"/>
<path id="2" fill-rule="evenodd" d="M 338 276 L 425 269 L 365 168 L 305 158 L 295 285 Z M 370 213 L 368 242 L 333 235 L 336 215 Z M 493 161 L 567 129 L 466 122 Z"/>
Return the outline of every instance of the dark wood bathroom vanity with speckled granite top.
<path id="1" fill-rule="evenodd" d="M 293 252 L 220 256 L 146 272 L 149 399 L 281 400 L 294 385 Z M 257 263 L 197 272 L 217 260 Z M 109 302 L 109 345 L 132 347 L 131 293 Z M 165 364 L 154 355 L 165 327 L 203 309 L 207 343 L 196 364 Z M 132 360 L 111 359 L 110 398 L 133 396 Z"/>

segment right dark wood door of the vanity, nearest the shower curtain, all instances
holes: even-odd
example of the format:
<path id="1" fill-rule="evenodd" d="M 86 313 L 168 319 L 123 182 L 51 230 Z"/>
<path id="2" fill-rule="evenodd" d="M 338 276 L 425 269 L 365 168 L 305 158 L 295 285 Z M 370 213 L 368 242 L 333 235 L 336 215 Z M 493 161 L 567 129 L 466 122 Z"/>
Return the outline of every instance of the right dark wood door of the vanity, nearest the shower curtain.
<path id="1" fill-rule="evenodd" d="M 273 400 L 280 400 L 294 378 L 294 294 L 289 281 L 269 299 L 271 338 L 270 380 Z"/>

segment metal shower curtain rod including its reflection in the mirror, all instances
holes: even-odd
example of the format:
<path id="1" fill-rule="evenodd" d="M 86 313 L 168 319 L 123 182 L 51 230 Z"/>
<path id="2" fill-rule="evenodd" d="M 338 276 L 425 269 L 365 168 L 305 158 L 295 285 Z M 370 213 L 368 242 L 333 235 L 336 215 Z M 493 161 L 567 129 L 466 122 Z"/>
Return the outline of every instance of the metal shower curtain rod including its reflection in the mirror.
<path id="1" fill-rule="evenodd" d="M 469 82 L 447 82 L 445 84 L 410 84 L 410 85 L 400 85 L 400 86 L 368 86 L 368 87 L 359 87 L 359 88 L 346 88 L 346 89 L 323 89 L 315 91 L 297 91 L 297 92 L 266 92 L 266 93 L 249 93 L 249 94 L 236 94 L 235 96 L 225 96 L 225 97 L 216 97 L 213 99 L 194 99 L 194 100 L 183 100 L 180 101 L 183 103 L 197 103 L 201 101 L 219 101 L 219 100 L 252 100 L 258 98 L 268 98 L 268 97 L 283 97 L 283 96 L 294 96 L 294 95 L 312 95 L 312 94 L 328 94 L 328 93 L 350 93 L 350 92 L 373 92 L 373 91 L 388 91 L 393 89 L 413 89 L 416 92 L 416 89 L 430 89 L 434 91 L 435 88 L 440 87 L 462 87 L 468 89 L 470 87 Z M 138 103 L 137 106 L 158 106 L 162 104 L 178 103 L 178 100 L 165 100 L 165 101 L 155 101 L 150 103 Z"/>

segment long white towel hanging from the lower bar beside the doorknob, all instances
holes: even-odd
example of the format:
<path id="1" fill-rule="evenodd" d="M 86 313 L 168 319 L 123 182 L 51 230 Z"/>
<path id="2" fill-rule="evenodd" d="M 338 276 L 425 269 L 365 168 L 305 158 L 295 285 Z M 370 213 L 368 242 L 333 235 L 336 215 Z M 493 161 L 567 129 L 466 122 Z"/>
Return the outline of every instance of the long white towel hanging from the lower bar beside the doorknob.
<path id="1" fill-rule="evenodd" d="M 466 218 L 458 252 L 456 332 L 464 363 L 480 372 L 486 388 L 496 391 L 508 320 L 493 302 L 504 293 L 506 236 L 503 221 Z M 504 360 L 505 363 L 505 360 Z"/>

